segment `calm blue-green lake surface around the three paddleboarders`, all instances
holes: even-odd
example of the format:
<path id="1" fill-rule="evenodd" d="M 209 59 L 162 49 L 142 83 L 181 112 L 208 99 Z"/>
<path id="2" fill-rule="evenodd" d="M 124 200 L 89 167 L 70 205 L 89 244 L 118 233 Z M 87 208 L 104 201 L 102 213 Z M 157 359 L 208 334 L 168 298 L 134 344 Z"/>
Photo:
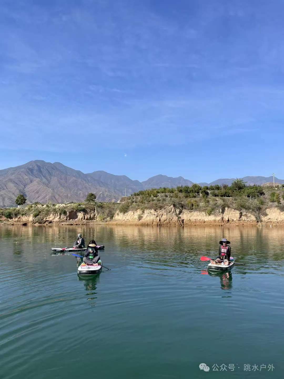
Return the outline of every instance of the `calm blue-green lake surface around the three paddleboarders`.
<path id="1" fill-rule="evenodd" d="M 80 279 L 76 257 L 52 254 L 79 232 L 105 244 L 111 271 Z M 283 377 L 282 228 L 1 226 L 0 236 L 1 378 Z M 246 265 L 208 274 L 200 257 L 223 237 Z"/>

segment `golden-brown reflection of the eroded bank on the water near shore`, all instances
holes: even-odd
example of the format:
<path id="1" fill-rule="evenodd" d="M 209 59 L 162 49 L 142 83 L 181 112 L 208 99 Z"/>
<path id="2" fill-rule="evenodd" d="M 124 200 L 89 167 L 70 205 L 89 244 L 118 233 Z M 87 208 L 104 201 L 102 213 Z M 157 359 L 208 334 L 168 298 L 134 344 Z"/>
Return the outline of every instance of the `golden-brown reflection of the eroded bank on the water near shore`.
<path id="1" fill-rule="evenodd" d="M 109 224 L 54 225 L 54 226 L 7 226 L 0 228 L 0 238 L 14 240 L 14 256 L 25 257 L 32 262 L 35 252 L 50 253 L 51 247 L 72 246 L 78 233 L 85 241 L 92 238 L 98 244 L 106 245 L 106 253 L 111 251 L 130 252 L 136 247 L 136 254 L 146 257 L 148 263 L 183 266 L 199 260 L 201 255 L 216 257 L 219 241 L 231 241 L 232 256 L 237 262 L 250 263 L 250 268 L 259 270 L 267 260 L 283 260 L 284 228 L 191 226 L 191 227 L 151 227 L 151 226 L 112 226 Z M 105 254 L 105 253 L 104 253 Z M 102 254 L 103 255 L 103 254 Z M 132 254 L 123 254 L 130 262 Z M 62 258 L 63 259 L 63 258 Z M 247 266 L 245 266 L 247 268 Z"/>

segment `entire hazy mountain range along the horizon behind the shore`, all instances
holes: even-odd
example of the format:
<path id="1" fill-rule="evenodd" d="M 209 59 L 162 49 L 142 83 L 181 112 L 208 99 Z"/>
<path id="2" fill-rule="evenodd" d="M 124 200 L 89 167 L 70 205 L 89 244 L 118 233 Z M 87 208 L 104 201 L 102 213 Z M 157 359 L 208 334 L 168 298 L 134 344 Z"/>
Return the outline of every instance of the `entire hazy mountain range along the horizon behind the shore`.
<path id="1" fill-rule="evenodd" d="M 201 185 L 231 185 L 235 178 L 218 179 Z M 273 177 L 247 176 L 243 180 L 249 184 L 262 185 L 273 182 Z M 275 178 L 275 182 L 284 183 L 284 180 Z M 0 207 L 15 205 L 19 193 L 27 197 L 27 203 L 82 202 L 87 193 L 93 192 L 98 201 L 117 201 L 126 194 L 159 187 L 176 187 L 178 185 L 192 185 L 192 181 L 179 176 L 177 178 L 166 175 L 156 175 L 144 182 L 131 180 L 125 175 L 113 175 L 105 171 L 94 171 L 84 174 L 64 164 L 48 163 L 42 160 L 30 161 L 21 166 L 0 170 Z M 126 187 L 126 188 L 125 188 Z"/>

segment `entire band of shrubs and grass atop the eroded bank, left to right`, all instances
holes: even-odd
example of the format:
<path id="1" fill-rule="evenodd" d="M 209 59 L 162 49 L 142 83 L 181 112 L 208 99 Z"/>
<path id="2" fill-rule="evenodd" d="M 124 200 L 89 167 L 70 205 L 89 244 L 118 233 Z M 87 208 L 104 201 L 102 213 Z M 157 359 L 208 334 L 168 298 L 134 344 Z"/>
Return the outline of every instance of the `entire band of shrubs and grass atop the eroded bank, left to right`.
<path id="1" fill-rule="evenodd" d="M 237 179 L 231 186 L 201 187 L 192 186 L 176 188 L 147 189 L 121 199 L 121 203 L 84 202 L 76 204 L 29 204 L 23 209 L 0 209 L 0 216 L 14 219 L 19 216 L 31 216 L 34 221 L 44 221 L 49 215 L 67 216 L 70 211 L 89 213 L 95 211 L 98 221 L 111 221 L 115 212 L 121 213 L 139 210 L 138 220 L 142 219 L 146 209 L 159 210 L 172 205 L 177 211 L 204 211 L 207 215 L 221 214 L 226 207 L 240 212 L 248 211 L 261 221 L 268 207 L 277 207 L 284 211 L 284 190 L 282 188 L 246 186 L 242 179 Z"/>

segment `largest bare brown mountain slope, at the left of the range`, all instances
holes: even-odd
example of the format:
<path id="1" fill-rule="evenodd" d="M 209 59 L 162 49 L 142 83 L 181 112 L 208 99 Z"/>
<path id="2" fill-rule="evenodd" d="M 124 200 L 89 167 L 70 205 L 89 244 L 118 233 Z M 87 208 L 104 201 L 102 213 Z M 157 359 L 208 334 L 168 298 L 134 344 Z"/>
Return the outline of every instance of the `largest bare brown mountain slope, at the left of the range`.
<path id="1" fill-rule="evenodd" d="M 22 166 L 0 170 L 0 206 L 14 205 L 17 194 L 23 193 L 27 202 L 81 202 L 94 192 L 100 201 L 118 200 L 121 191 L 90 175 L 73 170 L 61 163 L 30 161 Z"/>

